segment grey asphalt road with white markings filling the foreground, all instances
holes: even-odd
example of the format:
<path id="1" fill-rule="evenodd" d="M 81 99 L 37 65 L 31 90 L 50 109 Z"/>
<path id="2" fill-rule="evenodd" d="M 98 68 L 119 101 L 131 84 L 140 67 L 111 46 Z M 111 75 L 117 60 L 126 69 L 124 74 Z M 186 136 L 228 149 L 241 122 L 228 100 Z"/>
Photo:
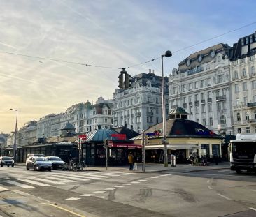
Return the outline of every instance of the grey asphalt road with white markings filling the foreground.
<path id="1" fill-rule="evenodd" d="M 256 216 L 256 175 L 0 167 L 0 216 Z"/>

